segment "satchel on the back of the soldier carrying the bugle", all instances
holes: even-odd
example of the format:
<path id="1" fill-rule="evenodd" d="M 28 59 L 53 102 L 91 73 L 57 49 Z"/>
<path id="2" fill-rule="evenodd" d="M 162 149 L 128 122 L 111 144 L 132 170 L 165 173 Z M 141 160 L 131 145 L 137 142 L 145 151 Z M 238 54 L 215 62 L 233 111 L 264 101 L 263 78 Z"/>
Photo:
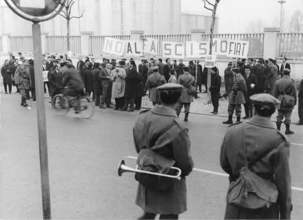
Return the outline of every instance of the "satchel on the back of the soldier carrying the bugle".
<path id="1" fill-rule="evenodd" d="M 166 130 L 172 127 L 175 122 L 169 124 L 165 127 L 161 133 L 163 134 Z M 137 159 L 138 169 L 150 171 L 150 172 L 158 172 L 163 174 L 174 175 L 174 169 L 171 167 L 175 164 L 175 160 L 162 156 L 153 149 L 149 147 L 149 141 L 146 131 L 146 148 L 141 149 Z M 159 175 L 147 174 L 136 172 L 135 180 L 142 184 L 144 187 L 150 190 L 165 192 L 171 189 L 173 182 L 175 181 L 173 178 L 169 177 L 161 177 Z"/>

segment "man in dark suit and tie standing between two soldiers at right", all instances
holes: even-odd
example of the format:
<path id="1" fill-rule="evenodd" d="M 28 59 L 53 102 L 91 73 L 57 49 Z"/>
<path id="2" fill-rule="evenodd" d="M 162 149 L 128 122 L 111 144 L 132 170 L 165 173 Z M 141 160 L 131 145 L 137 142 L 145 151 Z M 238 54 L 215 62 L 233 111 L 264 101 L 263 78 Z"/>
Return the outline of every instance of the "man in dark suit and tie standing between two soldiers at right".
<path id="1" fill-rule="evenodd" d="M 258 81 L 254 74 L 250 73 L 250 66 L 245 66 L 245 75 L 244 79 L 246 82 L 246 88 L 247 88 L 247 95 L 245 97 L 245 103 L 244 103 L 244 110 L 245 110 L 245 116 L 243 119 L 246 118 L 252 118 L 253 115 L 253 109 L 254 106 L 252 105 L 251 100 L 249 99 L 250 96 L 256 94 L 256 88 L 258 87 Z"/>

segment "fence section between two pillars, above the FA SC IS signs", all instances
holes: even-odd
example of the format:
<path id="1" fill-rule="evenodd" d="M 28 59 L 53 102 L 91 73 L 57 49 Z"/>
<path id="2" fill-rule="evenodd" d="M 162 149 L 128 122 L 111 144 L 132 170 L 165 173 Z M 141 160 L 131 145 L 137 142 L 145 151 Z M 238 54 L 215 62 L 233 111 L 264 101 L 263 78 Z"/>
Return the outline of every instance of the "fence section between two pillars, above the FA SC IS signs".
<path id="1" fill-rule="evenodd" d="M 142 38 L 149 37 L 158 40 L 158 55 L 162 56 L 162 41 L 186 42 L 191 40 L 190 34 L 173 34 L 173 35 L 142 35 Z"/>

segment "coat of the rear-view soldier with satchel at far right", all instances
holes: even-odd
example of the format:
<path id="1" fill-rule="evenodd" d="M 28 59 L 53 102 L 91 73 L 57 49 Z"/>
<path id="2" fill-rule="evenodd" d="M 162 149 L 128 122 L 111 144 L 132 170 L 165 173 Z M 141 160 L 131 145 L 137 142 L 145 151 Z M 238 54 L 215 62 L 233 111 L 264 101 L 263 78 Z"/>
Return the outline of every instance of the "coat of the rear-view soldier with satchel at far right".
<path id="1" fill-rule="evenodd" d="M 285 94 L 292 95 L 295 100 L 295 104 L 297 102 L 297 95 L 296 95 L 296 89 L 295 89 L 295 82 L 292 78 L 289 77 L 289 75 L 284 75 L 282 78 L 278 79 L 275 83 L 274 87 L 274 97 L 276 97 L 280 102 L 283 99 L 284 96 L 284 90 Z M 286 107 L 281 102 L 279 110 L 292 110 L 293 107 Z"/>

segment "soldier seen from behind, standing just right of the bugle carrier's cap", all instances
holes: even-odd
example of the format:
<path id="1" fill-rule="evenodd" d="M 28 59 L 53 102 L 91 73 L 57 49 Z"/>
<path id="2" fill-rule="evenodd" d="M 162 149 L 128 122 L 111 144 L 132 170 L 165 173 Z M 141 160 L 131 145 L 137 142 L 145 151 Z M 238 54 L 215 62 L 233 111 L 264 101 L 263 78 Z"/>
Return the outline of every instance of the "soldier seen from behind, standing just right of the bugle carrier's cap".
<path id="1" fill-rule="evenodd" d="M 190 103 L 193 102 L 193 97 L 192 97 L 193 95 L 188 94 L 187 89 L 190 86 L 193 86 L 194 88 L 196 87 L 195 79 L 192 75 L 190 75 L 188 70 L 189 70 L 188 66 L 183 66 L 183 74 L 180 75 L 178 78 L 178 84 L 183 85 L 183 89 L 179 100 L 179 106 L 176 109 L 176 112 L 179 117 L 181 109 L 183 108 L 184 105 L 184 113 L 185 113 L 184 121 L 188 121 Z"/>

